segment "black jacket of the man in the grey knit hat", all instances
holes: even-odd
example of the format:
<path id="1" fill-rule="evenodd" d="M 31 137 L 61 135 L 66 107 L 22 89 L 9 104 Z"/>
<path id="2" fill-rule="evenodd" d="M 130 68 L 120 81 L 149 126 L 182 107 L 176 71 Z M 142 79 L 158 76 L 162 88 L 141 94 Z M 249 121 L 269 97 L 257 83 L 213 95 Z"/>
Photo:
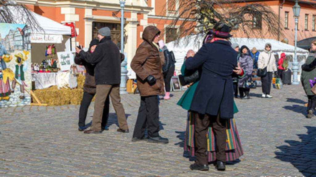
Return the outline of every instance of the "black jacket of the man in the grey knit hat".
<path id="1" fill-rule="evenodd" d="M 95 48 L 91 57 L 80 52 L 82 58 L 94 64 L 95 84 L 119 84 L 121 82 L 121 54 L 119 48 L 111 41 L 111 37 L 104 37 Z"/>

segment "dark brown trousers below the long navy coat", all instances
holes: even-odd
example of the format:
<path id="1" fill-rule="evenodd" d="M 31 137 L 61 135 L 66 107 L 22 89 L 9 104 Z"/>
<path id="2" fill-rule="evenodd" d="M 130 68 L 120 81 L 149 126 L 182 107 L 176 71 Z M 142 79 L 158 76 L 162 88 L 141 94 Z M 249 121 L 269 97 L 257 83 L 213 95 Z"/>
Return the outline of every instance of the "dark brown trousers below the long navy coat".
<path id="1" fill-rule="evenodd" d="M 213 128 L 216 139 L 216 159 L 226 162 L 226 120 L 208 114 L 193 113 L 195 119 L 195 156 L 196 163 L 208 164 L 206 134 L 208 127 Z"/>

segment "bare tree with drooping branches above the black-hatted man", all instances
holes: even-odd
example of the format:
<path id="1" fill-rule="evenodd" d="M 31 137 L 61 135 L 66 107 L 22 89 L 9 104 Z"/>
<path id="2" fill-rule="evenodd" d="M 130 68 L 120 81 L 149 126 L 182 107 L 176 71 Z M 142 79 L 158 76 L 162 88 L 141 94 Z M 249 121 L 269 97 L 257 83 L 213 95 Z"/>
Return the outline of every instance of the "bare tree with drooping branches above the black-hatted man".
<path id="1" fill-rule="evenodd" d="M 178 3 L 178 4 L 177 4 Z M 178 40 L 211 29 L 217 22 L 239 30 L 246 37 L 262 38 L 278 35 L 278 16 L 263 3 L 242 0 L 168 0 L 167 9 L 173 17 L 168 29 L 179 28 Z M 168 33 L 168 31 L 165 31 Z M 282 35 L 282 34 L 281 34 Z"/>

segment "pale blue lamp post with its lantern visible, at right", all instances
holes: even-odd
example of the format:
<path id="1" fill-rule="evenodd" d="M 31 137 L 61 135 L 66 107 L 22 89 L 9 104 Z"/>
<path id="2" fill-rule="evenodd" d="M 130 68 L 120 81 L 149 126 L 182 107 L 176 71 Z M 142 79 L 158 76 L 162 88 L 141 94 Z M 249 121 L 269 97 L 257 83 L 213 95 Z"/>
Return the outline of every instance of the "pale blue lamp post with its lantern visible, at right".
<path id="1" fill-rule="evenodd" d="M 298 62 L 297 62 L 297 54 L 296 54 L 296 44 L 297 44 L 297 23 L 298 18 L 300 17 L 301 6 L 298 5 L 298 0 L 295 1 L 295 5 L 293 6 L 293 17 L 295 19 L 295 48 L 294 48 L 294 58 L 293 58 L 293 81 L 292 84 L 298 85 L 297 71 L 298 71 Z"/>

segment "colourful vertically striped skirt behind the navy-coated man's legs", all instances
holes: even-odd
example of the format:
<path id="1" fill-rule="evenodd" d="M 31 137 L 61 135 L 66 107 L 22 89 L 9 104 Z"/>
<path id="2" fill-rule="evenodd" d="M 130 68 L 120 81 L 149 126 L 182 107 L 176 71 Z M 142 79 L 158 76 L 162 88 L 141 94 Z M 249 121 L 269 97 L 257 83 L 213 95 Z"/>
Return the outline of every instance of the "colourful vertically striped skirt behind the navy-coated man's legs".
<path id="1" fill-rule="evenodd" d="M 238 131 L 236 129 L 235 119 L 228 119 L 226 124 L 226 161 L 234 161 L 243 155 Z M 208 128 L 207 133 L 207 153 L 208 161 L 216 160 L 216 140 L 211 127 Z M 190 155 L 194 156 L 194 117 L 193 114 L 188 112 L 188 120 L 185 131 L 185 146 L 184 151 L 189 151 Z"/>

